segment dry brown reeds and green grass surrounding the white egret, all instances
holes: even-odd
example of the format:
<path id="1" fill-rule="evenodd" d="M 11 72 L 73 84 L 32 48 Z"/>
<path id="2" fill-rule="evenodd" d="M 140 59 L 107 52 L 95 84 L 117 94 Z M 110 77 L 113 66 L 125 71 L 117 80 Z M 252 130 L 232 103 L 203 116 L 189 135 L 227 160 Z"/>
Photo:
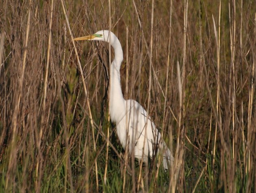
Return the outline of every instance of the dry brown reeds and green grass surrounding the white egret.
<path id="1" fill-rule="evenodd" d="M 152 78 L 169 172 L 117 142 L 108 44 L 72 42 L 109 18 L 124 97 L 147 108 Z M 0 1 L 0 192 L 255 192 L 255 37 L 255 0 Z"/>

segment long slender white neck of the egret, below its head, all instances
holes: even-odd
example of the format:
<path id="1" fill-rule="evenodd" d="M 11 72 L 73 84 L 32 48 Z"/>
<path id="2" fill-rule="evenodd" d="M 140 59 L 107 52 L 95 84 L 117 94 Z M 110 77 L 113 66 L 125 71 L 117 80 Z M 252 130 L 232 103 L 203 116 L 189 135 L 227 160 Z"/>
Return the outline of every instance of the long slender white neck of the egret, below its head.
<path id="1" fill-rule="evenodd" d="M 124 96 L 121 90 L 120 66 L 123 61 L 123 51 L 121 44 L 116 36 L 111 36 L 111 46 L 115 51 L 115 58 L 111 64 L 111 81 L 110 81 L 110 116 L 111 120 L 119 123 L 120 113 L 125 112 Z"/>

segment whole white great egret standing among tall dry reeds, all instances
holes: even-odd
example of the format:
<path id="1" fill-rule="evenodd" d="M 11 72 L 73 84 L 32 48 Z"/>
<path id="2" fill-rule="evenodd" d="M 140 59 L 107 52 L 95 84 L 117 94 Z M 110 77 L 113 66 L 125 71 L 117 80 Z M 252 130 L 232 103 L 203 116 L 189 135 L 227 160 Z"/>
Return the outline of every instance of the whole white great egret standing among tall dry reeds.
<path id="1" fill-rule="evenodd" d="M 161 140 L 160 132 L 149 116 L 147 121 L 146 110 L 135 100 L 125 100 L 122 94 L 120 66 L 123 61 L 123 50 L 117 36 L 109 30 L 101 30 L 74 40 L 99 40 L 111 44 L 115 58 L 111 63 L 110 116 L 116 124 L 119 141 L 124 149 L 129 145 L 130 155 L 134 153 L 137 159 L 143 159 L 145 163 L 148 162 L 148 156 L 152 157 L 161 150 L 163 167 L 168 169 L 174 157 L 164 140 Z"/>

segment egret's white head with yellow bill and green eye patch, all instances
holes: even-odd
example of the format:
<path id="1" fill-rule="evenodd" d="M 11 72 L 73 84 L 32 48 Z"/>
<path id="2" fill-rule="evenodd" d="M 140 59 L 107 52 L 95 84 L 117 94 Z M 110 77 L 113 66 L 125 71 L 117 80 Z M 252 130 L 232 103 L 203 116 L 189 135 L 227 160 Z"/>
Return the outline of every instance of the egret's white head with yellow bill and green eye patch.
<path id="1" fill-rule="evenodd" d="M 74 40 L 98 40 L 98 41 L 104 41 L 109 43 L 111 40 L 110 36 L 112 36 L 112 32 L 108 30 L 100 30 L 93 35 L 74 38 Z"/>

